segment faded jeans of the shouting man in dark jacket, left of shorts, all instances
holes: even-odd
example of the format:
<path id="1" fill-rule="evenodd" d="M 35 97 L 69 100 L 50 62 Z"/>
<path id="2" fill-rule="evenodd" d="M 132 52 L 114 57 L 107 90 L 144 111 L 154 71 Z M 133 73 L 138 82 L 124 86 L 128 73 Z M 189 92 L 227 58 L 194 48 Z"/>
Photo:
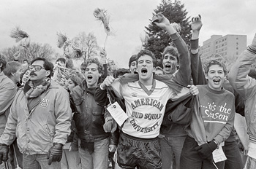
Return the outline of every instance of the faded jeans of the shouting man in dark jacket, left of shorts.
<path id="1" fill-rule="evenodd" d="M 79 147 L 80 160 L 83 169 L 108 168 L 108 138 L 94 142 L 94 152 Z"/>

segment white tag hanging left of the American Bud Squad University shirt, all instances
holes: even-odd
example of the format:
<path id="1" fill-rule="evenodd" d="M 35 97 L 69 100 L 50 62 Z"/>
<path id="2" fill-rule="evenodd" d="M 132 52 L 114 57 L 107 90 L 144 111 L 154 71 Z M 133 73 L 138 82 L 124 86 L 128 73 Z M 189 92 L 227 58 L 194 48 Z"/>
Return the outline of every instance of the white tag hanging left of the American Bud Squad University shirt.
<path id="1" fill-rule="evenodd" d="M 110 104 L 110 106 L 107 107 L 107 110 L 120 127 L 125 120 L 128 119 L 127 114 L 121 109 L 121 106 L 117 102 Z"/>

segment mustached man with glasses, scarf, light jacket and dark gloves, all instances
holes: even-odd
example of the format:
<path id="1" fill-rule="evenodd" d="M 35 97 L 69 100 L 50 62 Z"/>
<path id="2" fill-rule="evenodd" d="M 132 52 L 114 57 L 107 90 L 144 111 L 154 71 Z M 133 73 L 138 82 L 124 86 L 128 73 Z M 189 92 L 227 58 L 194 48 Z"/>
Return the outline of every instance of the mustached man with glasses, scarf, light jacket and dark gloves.
<path id="1" fill-rule="evenodd" d="M 17 137 L 23 168 L 61 168 L 62 146 L 70 133 L 69 95 L 53 82 L 53 64 L 36 58 L 29 66 L 30 80 L 19 90 L 0 138 L 0 163 Z"/>

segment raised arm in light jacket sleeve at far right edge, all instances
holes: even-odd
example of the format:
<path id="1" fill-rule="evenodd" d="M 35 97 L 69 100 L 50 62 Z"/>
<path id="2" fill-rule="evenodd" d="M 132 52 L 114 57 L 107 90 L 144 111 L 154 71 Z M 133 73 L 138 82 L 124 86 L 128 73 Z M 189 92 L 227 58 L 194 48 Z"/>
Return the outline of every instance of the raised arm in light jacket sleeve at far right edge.
<path id="1" fill-rule="evenodd" d="M 230 68 L 228 79 L 234 90 L 238 92 L 244 99 L 255 95 L 256 80 L 248 76 L 250 68 L 256 61 L 256 34 L 252 40 L 252 44 L 247 50 L 241 53 L 236 63 Z"/>

